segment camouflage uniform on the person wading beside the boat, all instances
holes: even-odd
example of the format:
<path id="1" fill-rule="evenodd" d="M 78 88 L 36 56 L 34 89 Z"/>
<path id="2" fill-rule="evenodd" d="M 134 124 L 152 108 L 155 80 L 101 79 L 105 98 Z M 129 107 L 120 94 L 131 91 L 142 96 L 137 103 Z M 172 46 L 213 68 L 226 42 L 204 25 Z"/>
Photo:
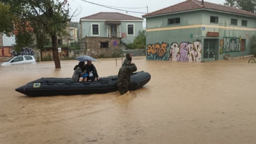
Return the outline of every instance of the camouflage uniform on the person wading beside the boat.
<path id="1" fill-rule="evenodd" d="M 130 64 L 130 61 L 127 61 L 126 64 L 119 69 L 117 87 L 121 95 L 128 91 L 130 75 L 134 71 L 137 71 L 137 67 L 135 64 Z"/>

